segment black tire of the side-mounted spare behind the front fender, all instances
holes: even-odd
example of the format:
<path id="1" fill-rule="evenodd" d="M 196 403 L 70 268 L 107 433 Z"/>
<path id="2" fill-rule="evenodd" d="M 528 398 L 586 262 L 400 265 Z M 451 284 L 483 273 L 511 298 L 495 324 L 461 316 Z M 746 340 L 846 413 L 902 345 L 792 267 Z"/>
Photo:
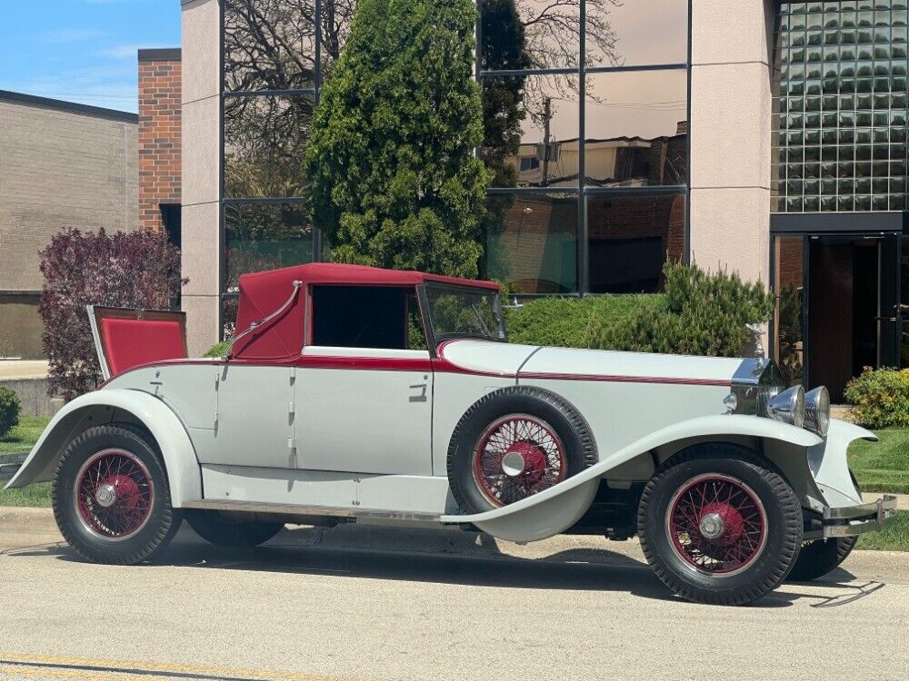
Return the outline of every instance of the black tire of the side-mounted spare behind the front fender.
<path id="1" fill-rule="evenodd" d="M 484 431 L 496 420 L 513 415 L 542 421 L 561 441 L 564 449 L 562 479 L 596 463 L 596 443 L 590 426 L 568 401 L 554 392 L 532 386 L 494 390 L 464 413 L 448 447 L 448 483 L 464 513 L 482 513 L 510 503 L 496 504 L 481 489 L 474 478 L 474 453 Z"/>

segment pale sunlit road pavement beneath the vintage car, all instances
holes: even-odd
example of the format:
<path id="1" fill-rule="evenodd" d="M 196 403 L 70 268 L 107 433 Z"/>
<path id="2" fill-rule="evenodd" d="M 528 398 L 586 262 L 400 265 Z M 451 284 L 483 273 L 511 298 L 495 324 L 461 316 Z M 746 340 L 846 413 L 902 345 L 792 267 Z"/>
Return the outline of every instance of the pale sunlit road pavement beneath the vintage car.
<path id="1" fill-rule="evenodd" d="M 82 562 L 46 511 L 0 509 L 0 679 L 899 679 L 909 556 L 750 607 L 673 597 L 634 542 L 466 532 L 189 530 L 154 563 Z"/>

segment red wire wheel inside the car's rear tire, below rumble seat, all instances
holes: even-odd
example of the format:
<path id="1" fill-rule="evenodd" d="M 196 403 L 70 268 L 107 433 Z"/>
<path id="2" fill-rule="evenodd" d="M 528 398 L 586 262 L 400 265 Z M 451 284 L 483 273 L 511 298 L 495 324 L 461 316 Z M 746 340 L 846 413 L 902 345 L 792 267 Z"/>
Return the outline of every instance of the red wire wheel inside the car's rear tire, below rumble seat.
<path id="1" fill-rule="evenodd" d="M 151 473 L 125 449 L 89 457 L 75 477 L 75 508 L 92 534 L 120 541 L 145 527 L 155 505 Z"/>

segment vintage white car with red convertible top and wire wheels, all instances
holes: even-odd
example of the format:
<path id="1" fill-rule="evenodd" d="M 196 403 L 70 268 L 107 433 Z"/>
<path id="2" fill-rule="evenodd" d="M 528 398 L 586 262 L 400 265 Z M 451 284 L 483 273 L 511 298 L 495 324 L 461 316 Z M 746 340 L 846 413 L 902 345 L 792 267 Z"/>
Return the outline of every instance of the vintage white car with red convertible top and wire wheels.
<path id="1" fill-rule="evenodd" d="M 186 518 L 254 546 L 285 523 L 640 538 L 681 597 L 744 604 L 835 568 L 895 498 L 846 463 L 874 434 L 770 360 L 509 344 L 498 286 L 307 264 L 240 278 L 225 357 L 177 314 L 90 311 L 108 380 L 9 487 L 53 480 L 82 557 L 132 564 Z"/>

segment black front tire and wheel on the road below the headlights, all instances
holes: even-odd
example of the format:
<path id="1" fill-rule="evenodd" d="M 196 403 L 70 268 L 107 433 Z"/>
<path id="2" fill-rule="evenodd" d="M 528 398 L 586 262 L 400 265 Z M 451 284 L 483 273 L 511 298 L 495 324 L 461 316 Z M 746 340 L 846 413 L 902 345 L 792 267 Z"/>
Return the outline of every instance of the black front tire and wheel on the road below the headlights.
<path id="1" fill-rule="evenodd" d="M 724 535 L 715 544 L 700 535 L 705 531 L 700 528 L 700 522 L 694 529 L 694 538 L 684 533 L 690 542 L 687 547 L 670 538 L 670 534 L 679 535 L 677 530 L 671 532 L 670 523 L 682 517 L 674 513 L 676 508 L 682 513 L 686 491 L 695 489 L 695 485 L 710 489 L 711 484 L 738 489 L 736 494 L 744 493 L 742 497 L 734 497 L 736 503 L 744 504 L 739 519 L 763 522 L 764 529 L 758 537 L 754 537 L 757 526 L 749 525 L 751 536 L 744 540 L 739 539 L 743 535 L 739 523 L 735 541 L 747 541 L 744 546 L 752 551 L 750 556 L 746 553 L 747 559 L 741 565 L 722 562 L 716 555 L 733 555 L 723 550 L 723 542 L 729 541 L 725 533 L 732 531 L 726 529 L 725 523 L 720 524 Z M 714 506 L 714 502 L 707 506 Z M 701 511 L 705 509 L 706 506 Z M 689 513 L 688 517 L 703 520 L 704 515 Z M 802 508 L 793 489 L 764 460 L 747 450 L 723 444 L 703 445 L 667 461 L 644 488 L 637 522 L 641 548 L 656 576 L 676 595 L 695 603 L 739 606 L 763 597 L 783 582 L 802 544 Z M 730 520 L 728 527 L 733 526 Z M 713 547 L 713 550 L 702 547 Z M 698 559 L 704 561 L 704 567 L 696 564 Z M 727 565 L 734 569 L 727 570 Z"/>

